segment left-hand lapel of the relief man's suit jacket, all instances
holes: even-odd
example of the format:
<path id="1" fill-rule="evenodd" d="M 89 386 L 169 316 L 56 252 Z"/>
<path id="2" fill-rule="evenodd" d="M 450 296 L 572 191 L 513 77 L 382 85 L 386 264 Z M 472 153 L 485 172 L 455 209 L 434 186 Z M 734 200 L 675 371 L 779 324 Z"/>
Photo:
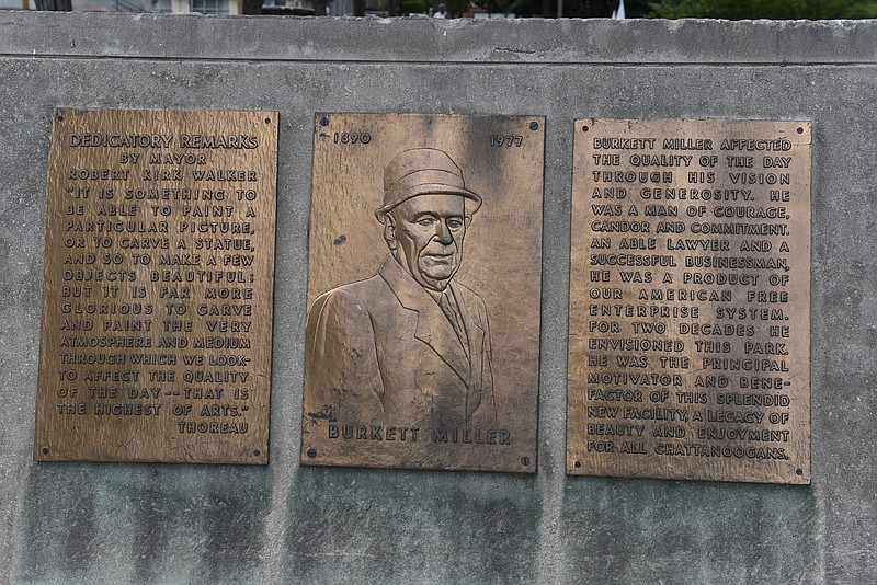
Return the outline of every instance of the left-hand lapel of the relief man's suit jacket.
<path id="1" fill-rule="evenodd" d="M 454 332 L 454 328 L 451 326 L 451 322 L 442 312 L 442 309 L 438 308 L 438 303 L 410 275 L 405 273 L 392 255 L 387 255 L 378 273 L 389 285 L 399 303 L 406 309 L 417 311 L 418 324 L 414 337 L 429 345 L 433 352 L 438 354 L 451 366 L 460 380 L 469 386 L 471 378 L 469 360 L 463 351 L 463 345 L 457 339 L 457 334 Z M 462 306 L 460 310 L 466 313 Z M 465 314 L 463 319 L 464 322 L 467 322 L 468 316 Z M 467 333 L 469 332 L 468 325 L 466 331 Z M 481 332 L 481 336 L 483 337 L 483 332 Z"/>

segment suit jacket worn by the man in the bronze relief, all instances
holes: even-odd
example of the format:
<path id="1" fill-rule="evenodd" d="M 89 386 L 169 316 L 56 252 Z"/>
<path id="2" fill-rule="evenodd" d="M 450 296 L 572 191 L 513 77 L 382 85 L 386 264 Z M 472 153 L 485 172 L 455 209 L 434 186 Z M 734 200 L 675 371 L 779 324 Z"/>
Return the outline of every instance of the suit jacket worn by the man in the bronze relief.
<path id="1" fill-rule="evenodd" d="M 305 414 L 342 423 L 496 428 L 490 326 L 481 298 L 452 282 L 469 357 L 438 303 L 388 255 L 378 274 L 308 312 Z"/>

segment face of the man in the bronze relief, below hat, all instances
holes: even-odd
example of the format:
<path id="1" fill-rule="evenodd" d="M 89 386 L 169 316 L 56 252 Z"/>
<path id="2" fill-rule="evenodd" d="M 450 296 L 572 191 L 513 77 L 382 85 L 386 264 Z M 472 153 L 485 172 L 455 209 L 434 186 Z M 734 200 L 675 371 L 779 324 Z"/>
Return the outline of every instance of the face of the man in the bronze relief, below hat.
<path id="1" fill-rule="evenodd" d="M 387 218 L 385 239 L 414 280 L 444 290 L 463 262 L 463 238 L 471 217 L 459 195 L 418 195 Z"/>

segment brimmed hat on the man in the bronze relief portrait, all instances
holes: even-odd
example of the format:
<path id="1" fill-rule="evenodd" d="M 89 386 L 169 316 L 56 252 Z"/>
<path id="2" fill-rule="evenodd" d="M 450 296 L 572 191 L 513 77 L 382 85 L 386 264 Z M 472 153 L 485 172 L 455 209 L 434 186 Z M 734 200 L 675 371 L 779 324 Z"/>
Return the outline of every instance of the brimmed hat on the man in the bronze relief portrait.
<path id="1" fill-rule="evenodd" d="M 459 195 L 481 207 L 481 197 L 466 188 L 463 171 L 451 157 L 434 148 L 412 148 L 397 154 L 384 169 L 384 205 L 375 217 L 384 223 L 387 211 L 418 195 Z"/>

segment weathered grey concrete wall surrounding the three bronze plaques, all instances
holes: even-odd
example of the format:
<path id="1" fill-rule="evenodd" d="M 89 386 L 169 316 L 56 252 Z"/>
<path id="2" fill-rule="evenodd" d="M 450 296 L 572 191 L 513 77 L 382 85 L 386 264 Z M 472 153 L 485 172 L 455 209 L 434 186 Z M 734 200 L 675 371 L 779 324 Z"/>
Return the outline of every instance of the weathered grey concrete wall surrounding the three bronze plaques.
<path id="1" fill-rule="evenodd" d="M 0 14 L 0 581 L 877 581 L 877 23 Z M 278 110 L 271 466 L 35 464 L 54 106 Z M 297 464 L 311 116 L 547 116 L 536 477 Z M 563 473 L 572 119 L 812 121 L 807 487 Z"/>

